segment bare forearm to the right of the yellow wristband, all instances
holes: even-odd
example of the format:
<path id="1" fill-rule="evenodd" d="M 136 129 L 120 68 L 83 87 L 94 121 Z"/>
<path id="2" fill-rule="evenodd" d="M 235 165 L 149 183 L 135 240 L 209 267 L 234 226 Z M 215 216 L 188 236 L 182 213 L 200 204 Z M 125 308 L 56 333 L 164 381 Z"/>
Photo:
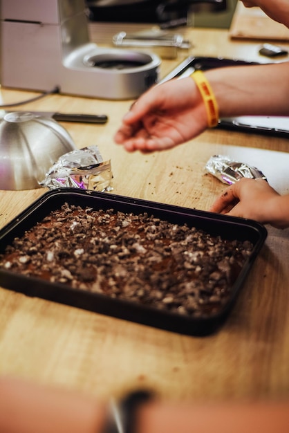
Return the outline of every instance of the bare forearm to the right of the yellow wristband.
<path id="1" fill-rule="evenodd" d="M 219 116 L 289 116 L 289 62 L 211 69 L 205 73 Z"/>

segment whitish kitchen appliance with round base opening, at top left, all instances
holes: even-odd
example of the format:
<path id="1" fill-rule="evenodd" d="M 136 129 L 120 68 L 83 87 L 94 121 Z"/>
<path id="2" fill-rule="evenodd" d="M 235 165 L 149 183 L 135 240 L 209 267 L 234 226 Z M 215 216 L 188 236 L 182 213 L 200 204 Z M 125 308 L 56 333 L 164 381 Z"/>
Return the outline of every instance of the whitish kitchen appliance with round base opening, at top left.
<path id="1" fill-rule="evenodd" d="M 90 42 L 84 0 L 1 0 L 3 87 L 137 98 L 158 82 L 160 57 Z"/>

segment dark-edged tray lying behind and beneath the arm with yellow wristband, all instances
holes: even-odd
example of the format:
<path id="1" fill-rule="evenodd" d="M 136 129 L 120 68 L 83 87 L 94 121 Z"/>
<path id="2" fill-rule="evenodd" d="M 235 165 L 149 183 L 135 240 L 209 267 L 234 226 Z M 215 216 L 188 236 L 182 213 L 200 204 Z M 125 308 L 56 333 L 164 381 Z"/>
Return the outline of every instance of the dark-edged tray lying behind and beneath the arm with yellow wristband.
<path id="1" fill-rule="evenodd" d="M 190 75 L 194 71 L 208 71 L 213 68 L 225 68 L 227 66 L 250 66 L 260 64 L 257 62 L 246 62 L 239 59 L 226 59 L 223 57 L 194 57 L 189 56 L 178 64 L 161 82 L 172 78 L 180 78 Z M 243 121 L 242 121 L 243 120 Z M 278 116 L 250 116 L 238 118 L 223 118 L 218 122 L 218 129 L 229 129 L 230 131 L 257 133 L 281 138 L 289 138 L 289 117 Z"/>

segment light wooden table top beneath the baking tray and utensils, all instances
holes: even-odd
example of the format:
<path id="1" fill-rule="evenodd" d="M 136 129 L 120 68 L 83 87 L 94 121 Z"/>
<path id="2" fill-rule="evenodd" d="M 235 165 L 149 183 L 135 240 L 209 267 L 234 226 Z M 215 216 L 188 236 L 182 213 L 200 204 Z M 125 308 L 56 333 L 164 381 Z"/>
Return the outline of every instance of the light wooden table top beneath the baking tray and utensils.
<path id="1" fill-rule="evenodd" d="M 256 42 L 232 42 L 225 30 L 186 30 L 194 55 L 261 60 Z M 97 24 L 91 25 L 97 42 Z M 285 44 L 286 46 L 286 44 Z M 165 75 L 182 58 L 162 62 Z M 2 89 L 6 104 L 36 95 Z M 214 154 L 254 163 L 289 192 L 286 138 L 210 130 L 170 151 L 127 154 L 113 133 L 131 101 L 50 95 L 21 109 L 106 113 L 106 125 L 63 123 L 77 147 L 97 145 L 111 159 L 113 193 L 207 210 L 225 185 L 205 173 Z M 0 191 L 0 224 L 43 189 Z M 133 386 L 165 398 L 289 397 L 289 230 L 268 239 L 229 319 L 216 335 L 194 338 L 82 311 L 0 288 L 0 374 L 61 385 L 106 398 Z"/>

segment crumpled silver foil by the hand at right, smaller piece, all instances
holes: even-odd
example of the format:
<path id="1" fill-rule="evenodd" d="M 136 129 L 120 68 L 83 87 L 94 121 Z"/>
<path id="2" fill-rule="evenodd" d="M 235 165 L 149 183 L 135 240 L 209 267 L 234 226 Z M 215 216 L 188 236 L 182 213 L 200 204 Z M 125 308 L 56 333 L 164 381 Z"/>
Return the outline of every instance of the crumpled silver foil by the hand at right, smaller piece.
<path id="1" fill-rule="evenodd" d="M 207 172 L 218 178 L 221 182 L 232 185 L 241 178 L 265 179 L 267 178 L 256 167 L 234 161 L 227 156 L 214 155 L 209 158 L 205 165 Z"/>

